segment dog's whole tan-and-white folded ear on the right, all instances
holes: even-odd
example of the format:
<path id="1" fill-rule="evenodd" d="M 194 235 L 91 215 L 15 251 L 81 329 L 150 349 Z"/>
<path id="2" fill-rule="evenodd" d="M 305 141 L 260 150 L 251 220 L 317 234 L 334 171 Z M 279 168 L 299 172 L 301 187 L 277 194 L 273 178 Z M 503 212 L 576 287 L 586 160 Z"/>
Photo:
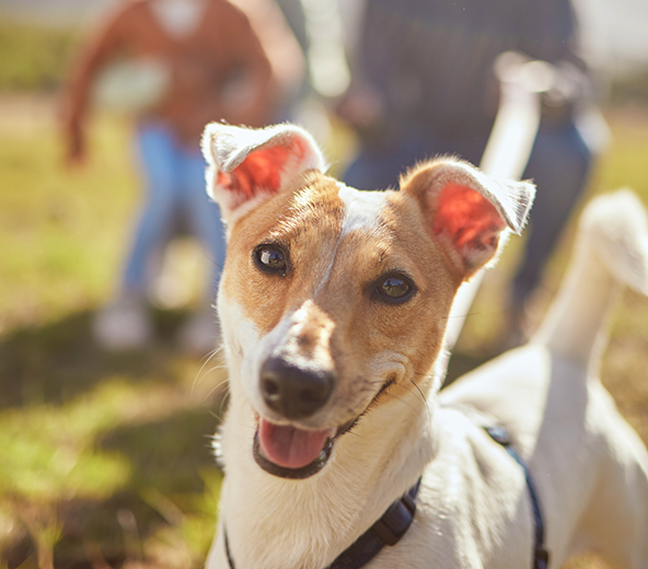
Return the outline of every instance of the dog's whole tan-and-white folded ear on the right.
<path id="1" fill-rule="evenodd" d="M 535 195 L 529 182 L 498 181 L 455 159 L 419 165 L 401 188 L 419 201 L 428 231 L 463 279 L 495 257 L 508 230 L 521 233 Z"/>

